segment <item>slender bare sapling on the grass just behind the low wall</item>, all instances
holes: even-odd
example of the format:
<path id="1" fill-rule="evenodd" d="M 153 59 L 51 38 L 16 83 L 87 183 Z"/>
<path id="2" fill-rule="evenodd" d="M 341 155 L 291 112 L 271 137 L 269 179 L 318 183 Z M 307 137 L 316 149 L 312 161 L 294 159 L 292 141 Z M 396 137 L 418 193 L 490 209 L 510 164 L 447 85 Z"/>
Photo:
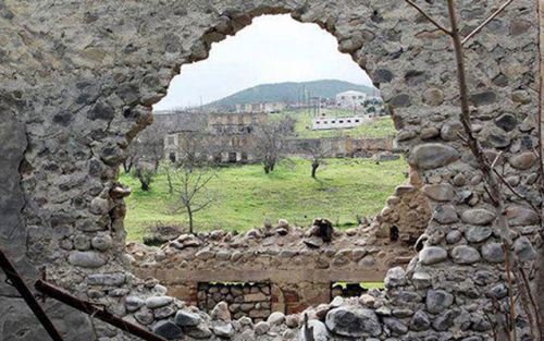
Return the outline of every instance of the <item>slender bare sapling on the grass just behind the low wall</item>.
<path id="1" fill-rule="evenodd" d="M 195 214 L 214 200 L 207 191 L 210 181 L 218 175 L 217 165 L 212 161 L 214 151 L 213 136 L 207 132 L 188 132 L 178 144 L 178 160 L 171 172 L 171 181 L 187 212 L 189 233 L 194 233 Z"/>

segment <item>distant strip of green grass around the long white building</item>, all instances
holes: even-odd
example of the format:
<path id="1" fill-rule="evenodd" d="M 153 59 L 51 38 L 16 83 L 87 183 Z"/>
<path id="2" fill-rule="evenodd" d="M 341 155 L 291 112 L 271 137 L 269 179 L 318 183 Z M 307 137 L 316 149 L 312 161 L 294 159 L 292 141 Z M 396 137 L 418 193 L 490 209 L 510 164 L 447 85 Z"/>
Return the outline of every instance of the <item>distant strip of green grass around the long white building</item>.
<path id="1" fill-rule="evenodd" d="M 382 137 L 394 137 L 396 134 L 395 125 L 391 117 L 375 118 L 372 122 L 368 124 L 362 124 L 354 129 L 348 130 L 327 130 L 327 131 L 313 131 L 312 119 L 313 113 L 308 110 L 290 110 L 283 111 L 281 113 L 272 114 L 272 118 L 281 118 L 282 115 L 287 115 L 294 118 L 297 123 L 295 125 L 295 132 L 299 138 L 323 138 L 323 137 L 336 137 L 342 134 L 342 136 L 349 136 L 355 138 L 382 138 Z M 327 117 L 349 117 L 353 115 L 350 110 L 343 109 L 326 109 Z"/>

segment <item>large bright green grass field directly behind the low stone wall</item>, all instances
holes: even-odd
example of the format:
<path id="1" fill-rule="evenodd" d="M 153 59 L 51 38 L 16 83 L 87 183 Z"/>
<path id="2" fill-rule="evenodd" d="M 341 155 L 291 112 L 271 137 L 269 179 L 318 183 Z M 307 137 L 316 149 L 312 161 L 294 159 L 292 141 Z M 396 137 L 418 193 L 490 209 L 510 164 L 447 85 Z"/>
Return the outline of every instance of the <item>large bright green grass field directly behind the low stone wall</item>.
<path id="1" fill-rule="evenodd" d="M 375 165 L 368 159 L 329 159 L 310 176 L 310 161 L 282 162 L 271 174 L 260 165 L 221 168 L 209 184 L 214 204 L 195 216 L 195 230 L 245 231 L 273 223 L 280 218 L 309 226 L 316 217 L 326 217 L 338 227 L 357 224 L 357 216 L 376 215 L 396 185 L 406 181 L 404 159 Z M 176 197 L 169 194 L 166 176 L 159 173 L 151 191 L 144 192 L 131 174 L 120 181 L 133 188 L 126 198 L 127 241 L 141 241 L 146 227 L 158 223 L 184 226 L 186 214 L 176 211 Z"/>

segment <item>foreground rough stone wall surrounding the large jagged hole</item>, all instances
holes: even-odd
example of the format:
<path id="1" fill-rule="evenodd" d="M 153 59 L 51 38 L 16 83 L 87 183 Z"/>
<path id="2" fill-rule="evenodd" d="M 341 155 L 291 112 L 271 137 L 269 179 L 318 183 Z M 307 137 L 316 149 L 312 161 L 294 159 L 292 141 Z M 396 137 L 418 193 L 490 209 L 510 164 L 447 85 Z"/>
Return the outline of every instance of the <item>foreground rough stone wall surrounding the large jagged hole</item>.
<path id="1" fill-rule="evenodd" d="M 465 34 L 494 10 L 483 0 L 456 3 L 462 8 Z M 447 22 L 444 2 L 423 4 Z M 500 170 L 508 182 L 541 205 L 533 154 L 540 90 L 536 7 L 535 1 L 515 1 L 467 46 L 466 56 L 477 136 L 491 153 L 503 151 Z M 149 297 L 163 295 L 164 288 L 127 271 L 123 194 L 112 191 L 118 169 L 180 65 L 207 58 L 213 41 L 263 13 L 292 13 L 336 37 L 339 50 L 368 70 L 394 107 L 399 147 L 422 183 L 431 186 L 433 219 L 425 247 L 406 272 L 391 271 L 385 297 L 376 299 L 381 307 L 369 297 L 329 306 L 326 332 L 382 340 L 487 338 L 484 308 L 490 295 L 503 297 L 504 266 L 481 174 L 457 135 L 450 41 L 399 1 L 0 2 L 0 102 L 8 103 L 8 117 L 15 118 L 13 129 L 21 134 L 13 159 L 2 163 L 2 174 L 13 185 L 2 196 L 2 219 L 15 212 L 13 223 L 1 226 L 2 246 L 21 245 L 8 252 L 17 264 L 28 265 L 21 268 L 29 281 L 45 267 L 49 280 L 82 297 L 156 330 L 174 329 L 156 321 L 172 320 L 182 305 L 166 306 L 173 301 L 165 296 Z M 1 135 L 2 142 L 9 138 Z M 516 251 L 531 267 L 528 241 L 539 247 L 541 243 L 537 215 L 509 191 L 504 195 Z M 13 226 L 16 233 L 7 233 Z M 26 252 L 23 258 L 21 249 Z M 27 316 L 17 299 L 1 300 L 2 308 L 11 307 L 10 314 L 0 315 L 2 337 L 42 339 L 36 324 L 13 322 Z M 345 313 L 368 328 L 349 334 L 338 324 Z M 210 321 L 203 315 L 201 319 Z M 370 325 L 362 322 L 369 319 Z M 297 326 L 289 321 L 285 324 Z M 120 338 L 115 330 L 63 322 L 69 333 L 96 330 L 104 340 Z M 272 338 L 262 333 L 263 325 L 232 326 L 236 336 L 244 336 L 239 339 Z M 210 338 L 221 332 L 213 330 L 208 330 Z M 298 333 L 290 330 L 289 336 Z"/>

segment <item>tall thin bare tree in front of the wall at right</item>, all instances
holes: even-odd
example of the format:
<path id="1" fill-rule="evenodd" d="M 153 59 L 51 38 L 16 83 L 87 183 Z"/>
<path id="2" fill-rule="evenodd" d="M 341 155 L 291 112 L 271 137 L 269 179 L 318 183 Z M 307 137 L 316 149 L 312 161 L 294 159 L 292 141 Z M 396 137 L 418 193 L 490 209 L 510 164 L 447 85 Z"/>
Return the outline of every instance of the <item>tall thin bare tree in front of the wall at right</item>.
<path id="1" fill-rule="evenodd" d="M 469 107 L 469 89 L 467 85 L 466 77 L 466 66 L 465 66 L 465 47 L 463 45 L 472 39 L 478 33 L 480 33 L 490 22 L 493 21 L 500 12 L 503 12 L 508 4 L 510 4 L 514 0 L 507 0 L 503 3 L 495 12 L 493 12 L 485 21 L 482 22 L 481 25 L 475 27 L 470 34 L 468 34 L 465 38 L 461 37 L 459 32 L 459 26 L 457 22 L 457 14 L 455 9 L 454 0 L 447 0 L 447 10 L 449 16 L 450 28 L 446 28 L 441 25 L 436 20 L 431 17 L 425 11 L 423 11 L 418 4 L 416 4 L 412 0 L 405 0 L 412 8 L 418 10 L 430 23 L 432 23 L 436 28 L 445 33 L 452 38 L 455 60 L 457 63 L 457 78 L 459 85 L 459 99 L 460 99 L 460 121 L 463 127 L 463 134 L 459 135 L 461 139 L 467 144 L 470 151 L 474 156 L 478 167 L 483 174 L 484 179 L 484 188 L 492 202 L 492 205 L 495 207 L 496 216 L 498 217 L 494 221 L 494 230 L 497 235 L 500 236 L 503 242 L 503 249 L 505 253 L 505 273 L 506 281 L 508 284 L 508 305 L 507 312 L 505 315 L 507 319 L 504 324 L 497 322 L 502 327 L 497 333 L 500 339 L 507 338 L 510 341 L 517 340 L 517 324 L 516 324 L 516 297 L 514 293 L 515 284 L 519 288 L 520 294 L 520 303 L 528 316 L 529 325 L 531 327 L 531 333 L 533 340 L 540 341 L 542 339 L 541 334 L 541 326 L 542 326 L 542 317 L 540 316 L 539 307 L 535 304 L 534 295 L 532 293 L 532 288 L 527 279 L 527 275 L 523 269 L 523 264 L 517 259 L 515 253 L 511 252 L 512 241 L 510 238 L 510 227 L 508 220 L 506 219 L 505 212 L 505 200 L 503 197 L 503 185 L 506 186 L 514 195 L 518 196 L 521 200 L 526 202 L 537 215 L 541 217 L 541 227 L 542 227 L 542 216 L 541 211 L 535 207 L 535 205 L 523 195 L 519 194 L 503 176 L 500 172 L 497 171 L 496 165 L 497 160 L 502 157 L 502 154 L 498 154 L 494 160 L 490 160 L 484 150 L 474 135 L 472 131 L 472 122 Z M 540 121 L 539 121 L 540 123 Z M 540 124 L 539 124 L 540 125 Z M 539 126 L 539 132 L 540 132 Z M 539 141 L 541 141 L 542 135 L 539 135 Z M 542 147 L 539 147 L 539 156 L 541 154 Z M 542 157 L 540 158 L 540 162 L 542 166 Z M 542 171 L 542 167 L 541 167 Z M 542 175 L 542 174 L 541 174 Z M 542 188 L 541 188 L 542 192 Z M 512 278 L 511 275 L 515 275 L 516 278 Z M 498 304 L 494 304 L 498 306 Z M 500 309 L 498 306 L 496 309 Z M 497 318 L 497 320 L 499 320 Z M 495 331 L 494 331 L 495 332 Z"/>

